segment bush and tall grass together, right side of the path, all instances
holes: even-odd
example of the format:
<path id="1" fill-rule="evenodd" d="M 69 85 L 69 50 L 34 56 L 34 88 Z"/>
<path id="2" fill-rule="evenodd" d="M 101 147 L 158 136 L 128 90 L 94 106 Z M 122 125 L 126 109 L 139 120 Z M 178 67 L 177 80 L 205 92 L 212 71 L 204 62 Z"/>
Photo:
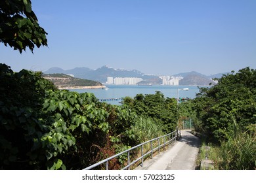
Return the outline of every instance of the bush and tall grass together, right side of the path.
<path id="1" fill-rule="evenodd" d="M 256 70 L 224 75 L 190 103 L 215 169 L 256 169 Z M 188 105 L 188 104 L 187 104 Z M 188 108 L 188 107 L 186 107 Z"/>

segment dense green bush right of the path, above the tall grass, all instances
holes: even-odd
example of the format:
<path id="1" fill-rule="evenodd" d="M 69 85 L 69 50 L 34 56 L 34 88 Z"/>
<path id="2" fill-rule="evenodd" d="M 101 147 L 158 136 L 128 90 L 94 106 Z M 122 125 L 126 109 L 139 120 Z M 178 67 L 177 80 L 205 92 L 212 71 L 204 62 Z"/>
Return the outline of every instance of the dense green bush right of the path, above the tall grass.
<path id="1" fill-rule="evenodd" d="M 256 71 L 247 67 L 217 81 L 201 88 L 194 104 L 204 133 L 221 142 L 234 135 L 234 120 L 242 130 L 255 124 Z"/>

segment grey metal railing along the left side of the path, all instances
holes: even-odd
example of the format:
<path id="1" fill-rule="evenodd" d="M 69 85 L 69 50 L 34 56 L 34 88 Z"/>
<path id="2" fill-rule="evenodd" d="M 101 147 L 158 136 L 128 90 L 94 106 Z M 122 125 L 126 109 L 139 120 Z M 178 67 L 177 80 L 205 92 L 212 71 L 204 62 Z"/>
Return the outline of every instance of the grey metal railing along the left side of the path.
<path id="1" fill-rule="evenodd" d="M 177 130 L 173 131 L 172 133 L 169 133 L 167 135 L 163 135 L 161 137 L 157 137 L 157 138 L 152 139 L 150 141 L 143 142 L 143 143 L 141 143 L 137 146 L 129 148 L 128 150 L 120 152 L 119 154 L 111 156 L 110 158 L 106 158 L 102 161 L 99 161 L 98 163 L 95 163 L 95 164 L 85 168 L 84 170 L 93 169 L 93 168 L 97 167 L 98 165 L 101 165 L 102 163 L 106 163 L 106 170 L 108 170 L 109 161 L 111 159 L 117 158 L 118 156 L 121 156 L 122 154 L 125 154 L 125 153 L 127 153 L 127 165 L 125 167 L 123 167 L 122 169 L 130 169 L 131 165 L 134 165 L 139 160 L 141 161 L 140 165 L 143 167 L 144 157 L 151 154 L 150 158 L 153 158 L 153 154 L 156 150 L 158 150 L 158 152 L 160 153 L 161 148 L 165 147 L 167 144 L 171 144 L 173 142 L 176 142 L 177 139 L 179 139 L 179 138 L 181 138 L 181 129 L 177 129 Z M 153 142 L 157 142 L 156 147 L 153 146 Z M 163 143 L 161 144 L 161 142 L 163 142 Z M 150 151 L 144 152 L 143 146 L 145 146 L 146 144 L 149 144 L 149 143 L 150 143 Z M 131 161 L 130 152 L 131 152 L 131 150 L 135 150 L 136 148 L 140 148 L 141 156 L 139 158 L 133 160 L 132 162 L 130 162 Z"/>

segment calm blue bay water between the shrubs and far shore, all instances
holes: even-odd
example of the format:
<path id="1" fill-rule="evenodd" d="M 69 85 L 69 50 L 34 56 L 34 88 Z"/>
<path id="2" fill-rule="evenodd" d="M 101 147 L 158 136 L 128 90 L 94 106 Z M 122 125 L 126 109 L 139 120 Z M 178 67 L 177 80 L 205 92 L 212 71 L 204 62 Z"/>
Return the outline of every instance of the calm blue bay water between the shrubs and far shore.
<path id="1" fill-rule="evenodd" d="M 179 89 L 179 97 L 196 97 L 199 92 L 198 86 L 137 86 L 137 85 L 106 85 L 105 89 L 74 89 L 78 93 L 94 93 L 98 99 L 116 99 L 121 97 L 135 97 L 137 94 L 154 94 L 156 91 L 163 93 L 165 97 L 177 99 L 177 91 Z M 189 88 L 188 91 L 182 88 Z M 119 105 L 119 101 L 106 101 L 108 103 Z"/>

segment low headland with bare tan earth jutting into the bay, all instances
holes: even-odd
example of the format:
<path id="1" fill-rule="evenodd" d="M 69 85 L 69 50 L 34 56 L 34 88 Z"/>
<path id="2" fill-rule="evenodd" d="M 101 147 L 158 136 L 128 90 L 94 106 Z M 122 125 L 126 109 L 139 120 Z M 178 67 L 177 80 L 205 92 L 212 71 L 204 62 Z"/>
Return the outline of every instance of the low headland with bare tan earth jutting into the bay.
<path id="1" fill-rule="evenodd" d="M 43 78 L 51 80 L 51 82 L 53 82 L 53 84 L 60 90 L 106 88 L 106 86 L 100 82 L 75 78 L 74 76 L 65 74 L 44 74 Z"/>

